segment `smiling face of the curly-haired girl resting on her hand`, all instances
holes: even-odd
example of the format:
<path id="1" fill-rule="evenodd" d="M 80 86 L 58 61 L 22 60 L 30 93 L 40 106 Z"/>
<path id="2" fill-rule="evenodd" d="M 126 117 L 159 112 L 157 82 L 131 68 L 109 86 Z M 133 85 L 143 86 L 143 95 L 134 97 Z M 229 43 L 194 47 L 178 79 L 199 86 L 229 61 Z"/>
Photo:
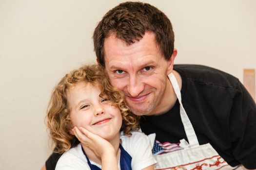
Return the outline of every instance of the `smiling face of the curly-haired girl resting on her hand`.
<path id="1" fill-rule="evenodd" d="M 79 82 L 67 90 L 67 105 L 74 126 L 110 141 L 119 137 L 122 117 L 114 102 L 99 97 L 100 92 L 98 85 Z"/>

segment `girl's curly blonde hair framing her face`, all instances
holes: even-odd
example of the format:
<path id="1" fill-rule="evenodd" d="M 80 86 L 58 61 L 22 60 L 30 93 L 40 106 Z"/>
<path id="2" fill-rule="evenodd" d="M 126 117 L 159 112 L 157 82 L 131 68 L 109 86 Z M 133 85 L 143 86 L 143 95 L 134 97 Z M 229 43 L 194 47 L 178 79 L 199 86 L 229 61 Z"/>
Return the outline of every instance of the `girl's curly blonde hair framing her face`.
<path id="1" fill-rule="evenodd" d="M 55 145 L 54 152 L 64 153 L 77 140 L 76 136 L 70 134 L 73 125 L 67 107 L 66 92 L 78 82 L 99 85 L 101 87 L 100 96 L 106 96 L 108 100 L 113 101 L 118 106 L 122 115 L 121 130 L 125 135 L 130 136 L 131 130 L 138 130 L 139 116 L 131 113 L 123 93 L 111 85 L 104 69 L 98 65 L 86 65 L 66 74 L 52 93 L 47 108 L 46 125 Z"/>

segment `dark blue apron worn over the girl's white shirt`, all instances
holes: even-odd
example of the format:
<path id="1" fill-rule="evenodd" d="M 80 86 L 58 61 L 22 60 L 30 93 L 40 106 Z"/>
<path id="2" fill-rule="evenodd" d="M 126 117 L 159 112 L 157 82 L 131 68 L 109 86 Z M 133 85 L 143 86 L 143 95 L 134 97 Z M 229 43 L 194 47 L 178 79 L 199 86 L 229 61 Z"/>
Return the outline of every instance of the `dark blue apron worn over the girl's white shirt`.
<path id="1" fill-rule="evenodd" d="M 121 170 L 132 170 L 132 166 L 131 166 L 132 156 L 123 149 L 121 144 L 119 145 L 119 148 L 121 150 L 121 153 L 120 153 L 120 168 L 121 168 Z M 82 152 L 85 155 L 85 157 L 87 159 L 87 163 L 91 170 L 101 170 L 96 165 L 91 164 L 88 156 L 86 155 L 86 153 L 83 150 L 83 147 L 82 147 Z"/>

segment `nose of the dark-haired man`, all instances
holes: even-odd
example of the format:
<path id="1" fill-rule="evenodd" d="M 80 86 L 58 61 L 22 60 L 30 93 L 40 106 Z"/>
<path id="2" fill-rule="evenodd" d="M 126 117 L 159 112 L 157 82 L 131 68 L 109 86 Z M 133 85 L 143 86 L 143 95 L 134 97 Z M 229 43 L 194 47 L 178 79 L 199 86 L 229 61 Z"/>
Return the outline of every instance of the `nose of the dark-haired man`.
<path id="1" fill-rule="evenodd" d="M 144 90 L 144 85 L 139 79 L 138 75 L 129 77 L 129 85 L 127 91 L 131 97 L 138 97 L 139 94 Z"/>

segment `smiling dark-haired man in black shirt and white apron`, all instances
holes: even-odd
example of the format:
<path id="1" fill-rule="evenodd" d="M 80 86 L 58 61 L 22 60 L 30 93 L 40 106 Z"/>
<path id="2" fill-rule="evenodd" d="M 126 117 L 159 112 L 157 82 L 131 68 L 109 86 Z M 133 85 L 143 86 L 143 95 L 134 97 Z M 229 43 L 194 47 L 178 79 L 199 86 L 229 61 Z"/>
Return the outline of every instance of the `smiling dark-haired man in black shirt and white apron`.
<path id="1" fill-rule="evenodd" d="M 174 33 L 165 14 L 147 3 L 121 3 L 93 37 L 98 64 L 132 112 L 143 115 L 142 132 L 156 134 L 156 169 L 256 169 L 255 102 L 227 73 L 175 66 Z M 166 142 L 180 143 L 178 151 L 159 155 L 156 148 L 164 150 Z M 50 157 L 47 170 L 57 160 Z"/>

